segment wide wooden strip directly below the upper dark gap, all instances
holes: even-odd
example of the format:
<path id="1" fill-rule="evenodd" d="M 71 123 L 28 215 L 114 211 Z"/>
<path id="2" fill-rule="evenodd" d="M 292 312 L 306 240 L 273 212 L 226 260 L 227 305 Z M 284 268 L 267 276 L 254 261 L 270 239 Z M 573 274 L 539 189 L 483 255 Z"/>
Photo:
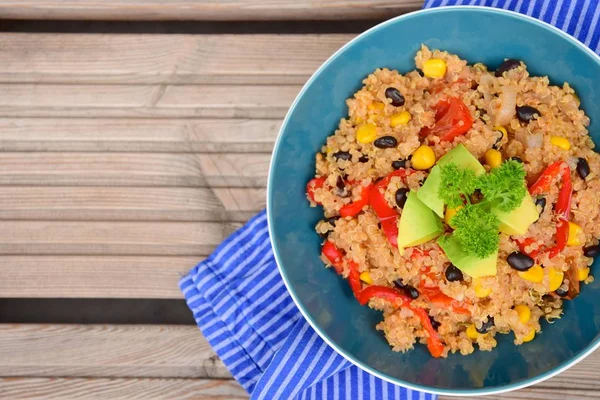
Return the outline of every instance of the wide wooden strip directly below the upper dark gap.
<path id="1" fill-rule="evenodd" d="M 354 36 L 3 33 L 0 82 L 303 84 Z"/>

